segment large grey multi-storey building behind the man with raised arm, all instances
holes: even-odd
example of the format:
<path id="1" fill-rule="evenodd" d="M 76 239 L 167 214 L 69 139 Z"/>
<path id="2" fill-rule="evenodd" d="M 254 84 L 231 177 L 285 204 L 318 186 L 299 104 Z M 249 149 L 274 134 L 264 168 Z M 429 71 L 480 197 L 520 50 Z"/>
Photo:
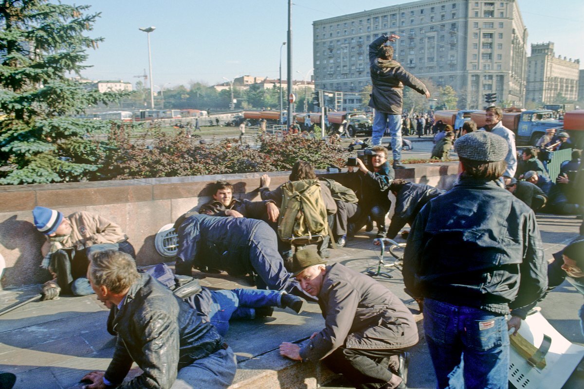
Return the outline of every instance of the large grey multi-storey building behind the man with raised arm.
<path id="1" fill-rule="evenodd" d="M 422 0 L 312 24 L 315 87 L 343 92 L 347 110 L 361 105 L 369 44 L 383 33 L 401 36 L 392 44 L 407 71 L 452 86 L 459 108 L 484 107 L 485 93 L 523 106 L 527 30 L 515 0 Z"/>

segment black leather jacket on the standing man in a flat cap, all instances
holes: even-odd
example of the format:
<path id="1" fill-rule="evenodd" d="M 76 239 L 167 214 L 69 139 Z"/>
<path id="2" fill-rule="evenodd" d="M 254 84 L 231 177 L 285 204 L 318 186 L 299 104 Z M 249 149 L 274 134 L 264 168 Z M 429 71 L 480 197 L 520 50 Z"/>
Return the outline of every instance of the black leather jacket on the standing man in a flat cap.
<path id="1" fill-rule="evenodd" d="M 420 211 L 403 274 L 414 296 L 500 314 L 526 306 L 547 288 L 536 217 L 495 181 L 463 174 Z"/>

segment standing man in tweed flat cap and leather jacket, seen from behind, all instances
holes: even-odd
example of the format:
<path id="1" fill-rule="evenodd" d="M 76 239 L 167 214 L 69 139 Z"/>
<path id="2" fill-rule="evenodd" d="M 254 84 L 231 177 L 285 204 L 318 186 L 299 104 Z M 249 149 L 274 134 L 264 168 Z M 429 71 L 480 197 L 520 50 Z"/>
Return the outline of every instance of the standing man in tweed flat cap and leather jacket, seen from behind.
<path id="1" fill-rule="evenodd" d="M 507 388 L 507 314 L 543 295 L 547 263 L 533 211 L 500 183 L 505 139 L 471 132 L 454 149 L 458 183 L 413 222 L 404 283 L 423 300 L 437 387 Z"/>

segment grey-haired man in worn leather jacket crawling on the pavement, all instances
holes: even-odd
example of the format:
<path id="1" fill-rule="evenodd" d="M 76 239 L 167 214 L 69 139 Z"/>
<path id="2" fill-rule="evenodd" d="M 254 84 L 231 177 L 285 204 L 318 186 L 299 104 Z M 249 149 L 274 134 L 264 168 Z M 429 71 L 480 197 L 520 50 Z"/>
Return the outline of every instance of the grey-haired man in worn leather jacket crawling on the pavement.
<path id="1" fill-rule="evenodd" d="M 100 251 L 88 269 L 91 287 L 106 307 L 114 307 L 116 348 L 106 372 L 82 378 L 86 389 L 227 388 L 235 359 L 210 323 L 203 323 L 171 290 L 148 274 L 138 274 L 134 260 L 120 251 Z M 135 362 L 142 374 L 127 383 Z"/>

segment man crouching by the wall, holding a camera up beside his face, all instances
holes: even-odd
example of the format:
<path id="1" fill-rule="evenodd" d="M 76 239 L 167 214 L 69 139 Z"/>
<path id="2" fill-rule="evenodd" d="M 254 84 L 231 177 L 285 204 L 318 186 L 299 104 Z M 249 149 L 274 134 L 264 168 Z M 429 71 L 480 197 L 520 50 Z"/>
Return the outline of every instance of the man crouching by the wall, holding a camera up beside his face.
<path id="1" fill-rule="evenodd" d="M 367 165 L 363 159 L 367 158 Z M 365 225 L 369 216 L 377 222 L 377 237 L 385 237 L 385 215 L 390 211 L 391 201 L 387 197 L 390 184 L 394 180 L 395 172 L 389 162 L 387 162 L 387 149 L 383 146 L 374 146 L 364 150 L 363 159 L 361 157 L 352 159 L 349 162 L 356 163 L 356 166 L 349 166 L 347 178 L 349 186 L 356 192 L 359 198 L 359 212 L 353 217 L 353 231 L 349 236 L 361 229 Z M 353 173 L 354 167 L 358 170 Z"/>

